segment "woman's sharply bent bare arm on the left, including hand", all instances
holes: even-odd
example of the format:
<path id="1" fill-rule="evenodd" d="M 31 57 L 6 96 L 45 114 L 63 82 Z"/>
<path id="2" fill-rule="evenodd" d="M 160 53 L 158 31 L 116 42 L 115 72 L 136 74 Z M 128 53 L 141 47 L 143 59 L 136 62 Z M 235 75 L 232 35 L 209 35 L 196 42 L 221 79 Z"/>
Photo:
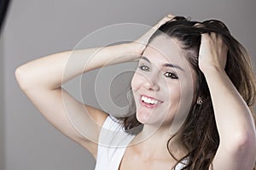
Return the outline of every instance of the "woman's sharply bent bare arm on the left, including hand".
<path id="1" fill-rule="evenodd" d="M 169 17 L 160 20 L 138 41 L 147 42 Z M 145 43 L 130 42 L 51 54 L 21 65 L 15 77 L 23 92 L 51 124 L 96 158 L 98 135 L 108 114 L 74 99 L 61 84 L 86 71 L 137 59 L 144 48 Z"/>

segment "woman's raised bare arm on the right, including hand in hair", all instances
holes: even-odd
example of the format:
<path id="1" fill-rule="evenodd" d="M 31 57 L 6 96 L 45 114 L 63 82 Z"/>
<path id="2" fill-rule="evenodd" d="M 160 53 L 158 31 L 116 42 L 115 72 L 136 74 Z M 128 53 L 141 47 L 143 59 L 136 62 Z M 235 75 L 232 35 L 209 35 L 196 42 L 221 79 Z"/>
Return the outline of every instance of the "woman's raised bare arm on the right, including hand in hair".
<path id="1" fill-rule="evenodd" d="M 253 117 L 224 71 L 226 55 L 221 37 L 202 35 L 199 64 L 207 79 L 220 138 L 212 167 L 252 170 L 256 158 Z"/>

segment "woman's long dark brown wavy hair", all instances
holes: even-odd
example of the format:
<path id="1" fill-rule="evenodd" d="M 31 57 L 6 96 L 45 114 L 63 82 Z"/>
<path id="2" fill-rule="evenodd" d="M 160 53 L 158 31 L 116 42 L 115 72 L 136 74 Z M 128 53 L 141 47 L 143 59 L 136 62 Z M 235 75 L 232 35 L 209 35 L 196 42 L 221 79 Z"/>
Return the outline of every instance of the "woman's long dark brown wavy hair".
<path id="1" fill-rule="evenodd" d="M 195 24 L 200 24 L 200 26 L 195 26 Z M 202 105 L 192 104 L 183 126 L 174 135 L 179 138 L 183 147 L 189 150 L 189 153 L 183 158 L 177 159 L 172 154 L 170 147 L 170 141 L 174 136 L 167 143 L 167 149 L 171 156 L 177 160 L 177 163 L 183 161 L 185 158 L 189 158 L 183 170 L 209 169 L 219 144 L 212 99 L 207 87 L 207 81 L 198 66 L 201 34 L 207 32 L 216 32 L 223 37 L 223 41 L 229 48 L 225 71 L 252 112 L 256 98 L 256 79 L 253 74 L 252 61 L 246 49 L 231 36 L 230 31 L 223 22 L 219 20 L 198 22 L 187 20 L 184 17 L 175 17 L 173 20 L 160 26 L 159 31 L 156 31 L 150 37 L 148 43 L 152 42 L 155 37 L 161 34 L 177 38 L 182 43 L 183 47 L 181 48 L 183 48 L 186 54 L 186 59 L 188 59 L 191 67 L 197 73 L 195 97 L 200 96 L 203 99 Z M 131 116 L 121 118 L 121 120 L 124 123 L 127 133 L 138 133 L 143 128 L 143 125 L 137 121 L 135 112 Z"/>

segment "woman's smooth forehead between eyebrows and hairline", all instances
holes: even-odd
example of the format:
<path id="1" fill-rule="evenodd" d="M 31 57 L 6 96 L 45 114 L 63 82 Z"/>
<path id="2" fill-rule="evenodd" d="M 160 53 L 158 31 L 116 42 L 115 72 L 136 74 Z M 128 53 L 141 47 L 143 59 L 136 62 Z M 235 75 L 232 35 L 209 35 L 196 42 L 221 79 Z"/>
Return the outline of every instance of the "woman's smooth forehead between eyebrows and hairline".
<path id="1" fill-rule="evenodd" d="M 189 69 L 189 62 L 184 57 L 183 49 L 176 38 L 158 36 L 145 48 L 143 56 L 154 64 L 171 63 Z"/>

